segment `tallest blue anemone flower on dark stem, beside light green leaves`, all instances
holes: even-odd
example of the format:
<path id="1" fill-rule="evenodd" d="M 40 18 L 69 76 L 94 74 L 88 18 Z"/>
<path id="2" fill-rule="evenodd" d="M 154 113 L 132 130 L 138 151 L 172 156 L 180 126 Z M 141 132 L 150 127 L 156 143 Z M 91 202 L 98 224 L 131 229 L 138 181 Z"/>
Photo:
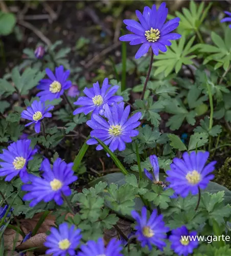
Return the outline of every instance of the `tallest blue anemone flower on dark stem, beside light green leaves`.
<path id="1" fill-rule="evenodd" d="M 158 55 L 159 50 L 166 52 L 166 46 L 171 46 L 170 40 L 181 37 L 180 34 L 172 33 L 179 26 L 179 18 L 173 18 L 165 23 L 168 15 L 166 3 L 162 3 L 158 10 L 156 5 L 153 5 L 152 9 L 146 6 L 143 15 L 137 10 L 135 13 L 140 23 L 133 19 L 125 19 L 124 23 L 127 25 L 127 30 L 133 34 L 123 35 L 119 39 L 130 41 L 130 45 L 142 44 L 135 54 L 136 59 L 146 54 L 150 47 L 155 55 Z"/>

